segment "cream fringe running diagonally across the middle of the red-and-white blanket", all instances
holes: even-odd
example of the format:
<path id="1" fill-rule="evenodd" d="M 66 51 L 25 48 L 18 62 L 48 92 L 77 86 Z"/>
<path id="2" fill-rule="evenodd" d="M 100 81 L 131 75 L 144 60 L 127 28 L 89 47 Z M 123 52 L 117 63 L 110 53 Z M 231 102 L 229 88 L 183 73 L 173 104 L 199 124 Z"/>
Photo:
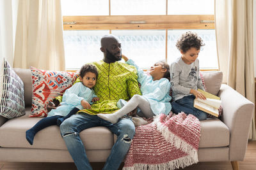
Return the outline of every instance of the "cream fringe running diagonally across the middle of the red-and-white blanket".
<path id="1" fill-rule="evenodd" d="M 179 138 L 179 136 L 170 132 L 168 127 L 161 124 L 159 119 L 159 117 L 155 117 L 153 123 L 157 125 L 157 131 L 162 133 L 164 139 L 175 146 L 175 148 L 189 154 L 191 157 L 193 157 L 193 159 L 198 159 L 197 150 L 193 146 L 186 143 L 186 141 Z"/>

